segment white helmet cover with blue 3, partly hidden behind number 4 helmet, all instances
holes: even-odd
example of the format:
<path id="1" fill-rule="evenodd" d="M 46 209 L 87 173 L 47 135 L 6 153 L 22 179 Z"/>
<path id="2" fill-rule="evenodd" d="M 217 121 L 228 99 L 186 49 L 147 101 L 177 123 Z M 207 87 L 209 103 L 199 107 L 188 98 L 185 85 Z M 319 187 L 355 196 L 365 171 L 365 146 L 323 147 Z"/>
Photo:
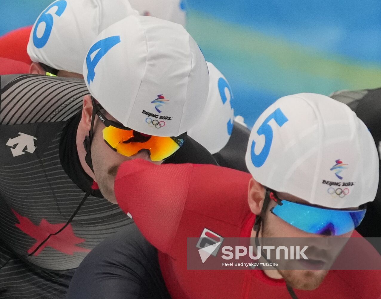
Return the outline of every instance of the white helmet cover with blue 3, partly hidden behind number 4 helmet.
<path id="1" fill-rule="evenodd" d="M 232 89 L 223 74 L 210 62 L 208 101 L 200 121 L 188 131 L 198 143 L 215 154 L 224 148 L 233 130 Z"/>

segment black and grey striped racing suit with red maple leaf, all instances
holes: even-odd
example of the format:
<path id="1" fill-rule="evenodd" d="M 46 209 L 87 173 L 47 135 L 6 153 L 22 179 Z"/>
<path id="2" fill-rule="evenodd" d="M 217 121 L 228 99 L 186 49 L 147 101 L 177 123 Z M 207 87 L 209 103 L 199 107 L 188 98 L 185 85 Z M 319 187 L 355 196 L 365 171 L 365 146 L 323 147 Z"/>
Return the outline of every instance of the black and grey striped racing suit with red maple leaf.
<path id="1" fill-rule="evenodd" d="M 91 189 L 80 166 L 84 81 L 27 74 L 0 82 L 0 297 L 63 298 L 88 252 L 132 220 Z M 191 138 L 166 162 L 216 164 Z"/>

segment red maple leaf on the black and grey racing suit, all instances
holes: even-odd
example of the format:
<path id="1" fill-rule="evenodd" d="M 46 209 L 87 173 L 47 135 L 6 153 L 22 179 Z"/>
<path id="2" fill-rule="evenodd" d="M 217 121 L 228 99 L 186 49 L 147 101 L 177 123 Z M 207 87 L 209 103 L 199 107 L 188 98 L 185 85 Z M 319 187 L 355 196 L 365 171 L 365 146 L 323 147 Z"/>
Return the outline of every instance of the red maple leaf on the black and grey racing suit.
<path id="1" fill-rule="evenodd" d="M 36 239 L 37 242 L 28 250 L 28 253 L 32 253 L 50 234 L 56 233 L 60 230 L 66 223 L 51 224 L 46 219 L 42 219 L 40 225 L 34 225 L 27 217 L 23 217 L 12 209 L 13 214 L 17 217 L 20 223 L 16 223 L 21 231 L 26 233 L 28 236 Z M 85 239 L 78 238 L 74 235 L 73 228 L 71 224 L 67 225 L 60 233 L 57 235 L 51 235 L 50 238 L 33 254 L 38 256 L 38 254 L 43 251 L 46 246 L 56 249 L 57 251 L 73 255 L 74 252 L 90 252 L 90 249 L 75 246 L 75 244 L 82 243 L 86 241 Z"/>

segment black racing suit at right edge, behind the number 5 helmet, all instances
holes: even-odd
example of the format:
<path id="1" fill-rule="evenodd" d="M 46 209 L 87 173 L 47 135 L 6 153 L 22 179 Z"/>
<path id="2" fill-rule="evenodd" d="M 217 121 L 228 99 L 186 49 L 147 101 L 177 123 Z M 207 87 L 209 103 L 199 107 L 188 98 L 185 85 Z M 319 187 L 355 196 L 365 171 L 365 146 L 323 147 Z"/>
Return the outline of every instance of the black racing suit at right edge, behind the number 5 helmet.
<path id="1" fill-rule="evenodd" d="M 357 114 L 368 127 L 375 140 L 378 153 L 381 155 L 381 88 L 344 90 L 335 92 L 330 97 L 347 104 Z M 381 180 L 378 183 L 376 198 L 368 203 L 365 218 L 356 230 L 364 237 L 381 237 Z"/>

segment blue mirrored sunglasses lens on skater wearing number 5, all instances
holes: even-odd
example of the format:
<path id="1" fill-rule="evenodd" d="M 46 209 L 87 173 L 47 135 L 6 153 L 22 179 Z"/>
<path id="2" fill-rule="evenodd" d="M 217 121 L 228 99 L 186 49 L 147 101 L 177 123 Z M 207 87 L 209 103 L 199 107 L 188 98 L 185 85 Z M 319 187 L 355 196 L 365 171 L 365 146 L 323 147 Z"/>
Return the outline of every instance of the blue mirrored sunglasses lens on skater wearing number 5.
<path id="1" fill-rule="evenodd" d="M 360 225 L 367 210 L 332 210 L 282 200 L 272 213 L 307 233 L 343 235 Z"/>

